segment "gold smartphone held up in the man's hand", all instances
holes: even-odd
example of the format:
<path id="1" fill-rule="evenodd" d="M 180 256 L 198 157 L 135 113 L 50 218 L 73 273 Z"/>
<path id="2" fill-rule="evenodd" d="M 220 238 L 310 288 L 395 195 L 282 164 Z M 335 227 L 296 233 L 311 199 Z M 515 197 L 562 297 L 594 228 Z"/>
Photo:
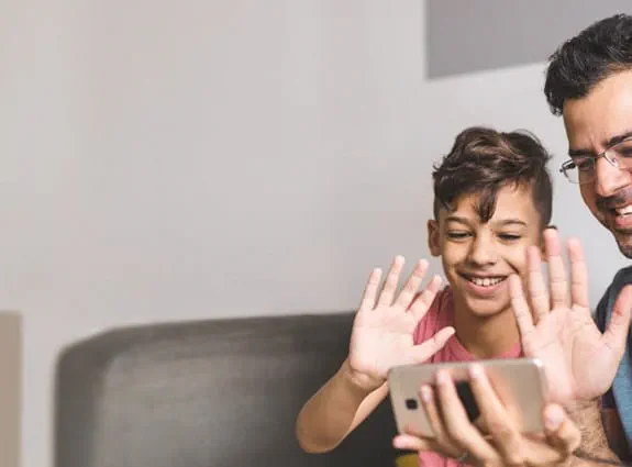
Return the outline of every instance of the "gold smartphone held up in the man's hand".
<path id="1" fill-rule="evenodd" d="M 476 363 L 485 369 L 500 400 L 511 407 L 519 430 L 522 433 L 541 433 L 544 430 L 542 410 L 546 403 L 546 379 L 542 363 L 535 358 L 499 358 Z M 433 387 L 433 394 L 436 394 L 434 381 L 440 368 L 450 373 L 469 421 L 476 423 L 480 411 L 469 386 L 467 368 L 472 364 L 446 362 L 392 368 L 388 374 L 388 385 L 399 433 L 404 433 L 408 427 L 423 436 L 434 436 L 421 402 L 420 389 L 429 385 Z"/>

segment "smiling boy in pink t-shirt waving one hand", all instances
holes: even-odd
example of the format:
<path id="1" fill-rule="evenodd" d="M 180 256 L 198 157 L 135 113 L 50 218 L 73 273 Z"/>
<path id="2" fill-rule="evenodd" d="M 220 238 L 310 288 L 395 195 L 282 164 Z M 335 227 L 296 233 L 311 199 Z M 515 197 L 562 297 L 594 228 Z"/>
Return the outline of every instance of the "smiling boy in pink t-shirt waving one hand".
<path id="1" fill-rule="evenodd" d="M 470 127 L 457 135 L 433 173 L 434 219 L 428 222 L 430 252 L 441 256 L 448 286 L 440 291 L 435 276 L 418 293 L 428 269 L 420 260 L 396 294 L 403 266 L 396 257 L 377 297 L 380 270 L 370 274 L 348 357 L 298 415 L 304 451 L 337 446 L 386 398 L 393 366 L 521 355 L 507 278 L 524 274 L 525 248 L 540 246 L 551 220 L 548 159 L 524 133 Z M 457 463 L 420 453 L 420 464 Z"/>

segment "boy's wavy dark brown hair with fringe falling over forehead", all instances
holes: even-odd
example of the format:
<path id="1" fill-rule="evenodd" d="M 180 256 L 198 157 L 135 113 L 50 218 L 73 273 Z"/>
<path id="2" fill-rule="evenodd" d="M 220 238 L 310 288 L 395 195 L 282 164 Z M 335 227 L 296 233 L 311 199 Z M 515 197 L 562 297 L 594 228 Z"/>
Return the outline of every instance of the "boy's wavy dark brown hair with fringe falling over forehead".
<path id="1" fill-rule="evenodd" d="M 484 126 L 461 132 L 441 165 L 434 166 L 434 218 L 464 194 L 479 193 L 476 210 L 488 222 L 496 210 L 498 190 L 531 187 L 542 226 L 551 221 L 553 184 L 546 168 L 551 155 L 528 132 L 501 133 Z"/>

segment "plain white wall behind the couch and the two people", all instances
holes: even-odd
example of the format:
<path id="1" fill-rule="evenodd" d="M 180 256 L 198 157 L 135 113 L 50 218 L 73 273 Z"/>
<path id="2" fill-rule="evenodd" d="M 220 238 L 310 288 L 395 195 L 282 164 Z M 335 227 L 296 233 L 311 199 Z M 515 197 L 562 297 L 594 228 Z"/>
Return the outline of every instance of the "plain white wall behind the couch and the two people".
<path id="1" fill-rule="evenodd" d="M 426 255 L 431 164 L 463 126 L 528 127 L 566 148 L 542 64 L 425 82 L 418 0 L 7 11 L 0 308 L 25 319 L 24 467 L 51 465 L 67 343 L 126 323 L 354 308 L 373 266 Z M 596 302 L 623 262 L 556 177 L 555 220 L 590 245 Z"/>

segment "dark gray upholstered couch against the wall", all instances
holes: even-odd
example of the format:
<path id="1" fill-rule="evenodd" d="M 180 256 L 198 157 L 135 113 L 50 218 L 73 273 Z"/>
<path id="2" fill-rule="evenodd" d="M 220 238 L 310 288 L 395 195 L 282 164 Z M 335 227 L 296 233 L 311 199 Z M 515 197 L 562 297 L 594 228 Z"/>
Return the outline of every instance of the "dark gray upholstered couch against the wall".
<path id="1" fill-rule="evenodd" d="M 391 467 L 390 402 L 337 449 L 295 419 L 346 356 L 352 313 L 118 329 L 57 368 L 55 467 Z"/>

